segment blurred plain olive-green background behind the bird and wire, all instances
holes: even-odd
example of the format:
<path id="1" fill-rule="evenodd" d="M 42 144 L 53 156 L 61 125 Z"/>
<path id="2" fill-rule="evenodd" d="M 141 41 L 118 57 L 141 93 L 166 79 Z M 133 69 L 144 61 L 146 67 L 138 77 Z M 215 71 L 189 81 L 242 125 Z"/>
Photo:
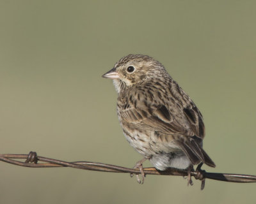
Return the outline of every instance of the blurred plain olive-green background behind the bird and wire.
<path id="1" fill-rule="evenodd" d="M 132 167 L 101 75 L 162 62 L 204 115 L 207 171 L 256 175 L 255 1 L 0 1 L 1 153 Z M 145 166 L 150 166 L 146 163 Z M 256 203 L 256 184 L 0 163 L 0 203 Z"/>

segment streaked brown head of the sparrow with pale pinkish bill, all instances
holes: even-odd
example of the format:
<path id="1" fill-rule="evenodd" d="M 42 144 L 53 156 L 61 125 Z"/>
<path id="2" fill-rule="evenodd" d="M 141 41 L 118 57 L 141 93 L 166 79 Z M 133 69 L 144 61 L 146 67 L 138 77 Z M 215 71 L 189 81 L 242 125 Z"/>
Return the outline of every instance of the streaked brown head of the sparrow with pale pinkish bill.
<path id="1" fill-rule="evenodd" d="M 152 78 L 166 75 L 163 65 L 147 55 L 127 55 L 116 62 L 113 69 L 102 75 L 113 79 L 116 91 L 121 87 L 129 88 Z"/>

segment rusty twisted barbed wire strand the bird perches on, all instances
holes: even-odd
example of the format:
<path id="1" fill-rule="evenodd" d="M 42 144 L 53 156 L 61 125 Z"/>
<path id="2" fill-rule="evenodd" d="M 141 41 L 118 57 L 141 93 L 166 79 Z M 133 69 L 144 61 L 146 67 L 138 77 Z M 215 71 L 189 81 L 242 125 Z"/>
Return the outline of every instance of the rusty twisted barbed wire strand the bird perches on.
<path id="1" fill-rule="evenodd" d="M 15 159 L 26 159 L 26 161 L 17 161 Z M 60 161 L 57 159 L 51 159 L 47 157 L 37 156 L 36 152 L 29 152 L 29 154 L 0 154 L 0 161 L 6 163 L 15 164 L 19 166 L 25 166 L 30 168 L 50 168 L 50 167 L 71 167 L 79 168 L 83 170 L 91 171 L 105 171 L 113 173 L 134 173 L 139 175 L 140 169 L 125 168 L 122 166 L 115 166 L 112 164 L 95 163 L 90 161 Z M 40 163 L 38 163 L 40 162 Z M 201 170 L 202 165 L 199 165 L 196 170 L 191 171 L 191 176 L 195 179 L 202 180 L 201 189 L 204 189 L 205 179 L 220 180 L 225 182 L 236 183 L 252 183 L 256 182 L 255 175 L 233 174 L 233 173 L 210 173 L 205 170 Z M 187 170 L 179 170 L 175 168 L 168 168 L 165 171 L 158 171 L 156 168 L 143 168 L 147 175 L 173 175 L 186 177 L 188 175 Z"/>

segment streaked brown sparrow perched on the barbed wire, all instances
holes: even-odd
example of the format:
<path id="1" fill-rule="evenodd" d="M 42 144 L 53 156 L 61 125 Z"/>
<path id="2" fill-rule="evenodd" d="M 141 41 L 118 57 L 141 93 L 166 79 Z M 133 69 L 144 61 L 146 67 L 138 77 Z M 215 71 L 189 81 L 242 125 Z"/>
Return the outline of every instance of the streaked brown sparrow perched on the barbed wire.
<path id="1" fill-rule="evenodd" d="M 144 182 L 147 159 L 159 171 L 188 170 L 188 185 L 193 185 L 194 165 L 216 166 L 202 148 L 202 113 L 161 62 L 148 55 L 129 54 L 102 77 L 113 80 L 123 133 L 143 156 L 134 166 L 140 169 L 139 183 Z"/>

